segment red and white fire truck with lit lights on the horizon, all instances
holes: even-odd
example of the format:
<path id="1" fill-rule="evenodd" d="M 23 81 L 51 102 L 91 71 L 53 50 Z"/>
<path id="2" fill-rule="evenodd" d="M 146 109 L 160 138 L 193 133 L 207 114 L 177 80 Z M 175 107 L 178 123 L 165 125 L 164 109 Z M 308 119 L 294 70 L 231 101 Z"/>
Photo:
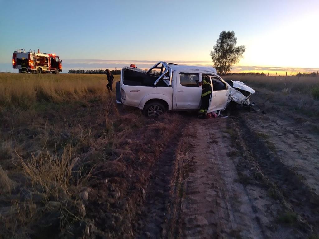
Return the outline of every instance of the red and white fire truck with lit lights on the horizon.
<path id="1" fill-rule="evenodd" d="M 16 49 L 12 55 L 13 69 L 19 69 L 20 73 L 59 74 L 62 71 L 62 60 L 55 54 L 42 53 L 39 51 L 20 48 Z"/>

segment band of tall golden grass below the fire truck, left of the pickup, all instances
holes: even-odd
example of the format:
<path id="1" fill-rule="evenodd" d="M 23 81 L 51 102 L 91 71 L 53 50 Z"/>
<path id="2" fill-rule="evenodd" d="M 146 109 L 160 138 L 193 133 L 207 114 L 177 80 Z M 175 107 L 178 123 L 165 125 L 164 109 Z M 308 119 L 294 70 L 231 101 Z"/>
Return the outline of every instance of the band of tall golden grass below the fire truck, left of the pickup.
<path id="1" fill-rule="evenodd" d="M 119 76 L 115 76 L 115 81 Z M 79 101 L 106 91 L 105 75 L 88 74 L 0 74 L 0 106 L 14 105 L 24 109 L 34 102 Z"/>

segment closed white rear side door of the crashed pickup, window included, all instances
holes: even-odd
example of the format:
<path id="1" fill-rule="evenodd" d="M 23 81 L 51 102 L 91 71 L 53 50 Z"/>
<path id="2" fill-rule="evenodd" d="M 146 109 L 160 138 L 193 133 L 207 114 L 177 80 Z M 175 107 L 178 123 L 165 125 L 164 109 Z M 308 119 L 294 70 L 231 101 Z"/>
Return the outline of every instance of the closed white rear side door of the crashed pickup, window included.
<path id="1" fill-rule="evenodd" d="M 201 99 L 202 86 L 199 74 L 192 72 L 180 72 L 176 75 L 176 107 L 177 109 L 198 109 Z"/>

